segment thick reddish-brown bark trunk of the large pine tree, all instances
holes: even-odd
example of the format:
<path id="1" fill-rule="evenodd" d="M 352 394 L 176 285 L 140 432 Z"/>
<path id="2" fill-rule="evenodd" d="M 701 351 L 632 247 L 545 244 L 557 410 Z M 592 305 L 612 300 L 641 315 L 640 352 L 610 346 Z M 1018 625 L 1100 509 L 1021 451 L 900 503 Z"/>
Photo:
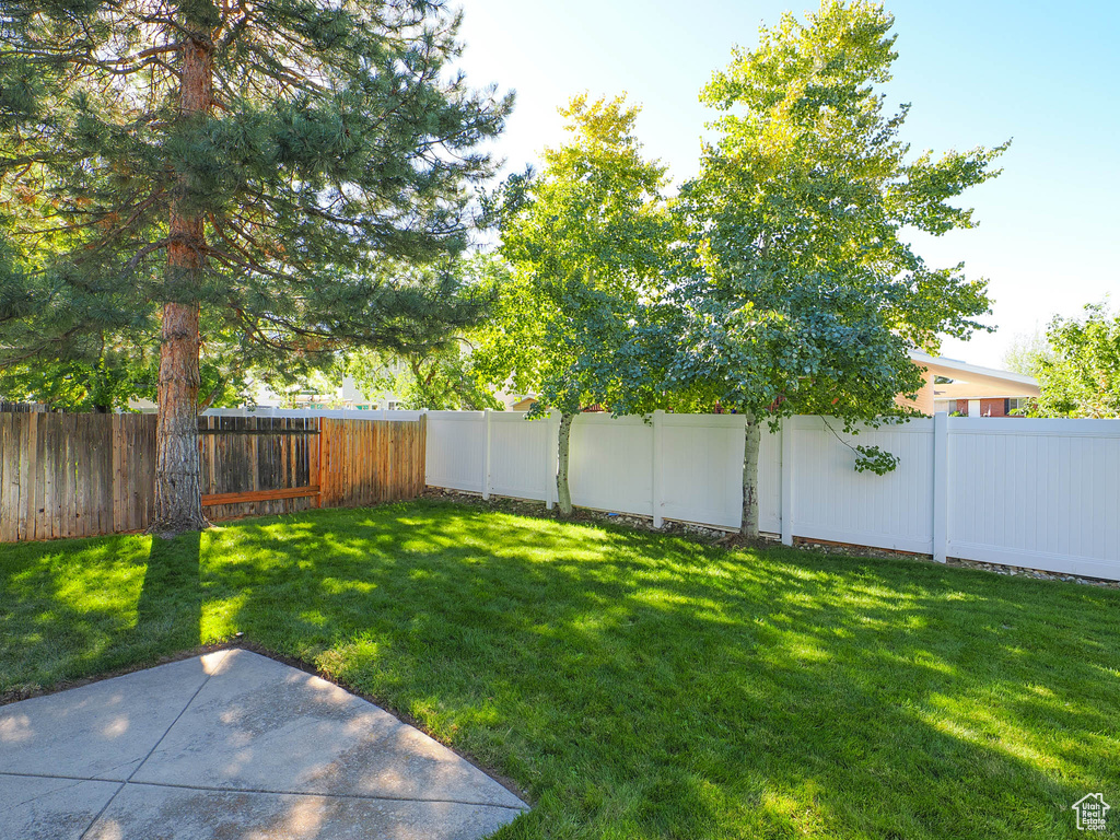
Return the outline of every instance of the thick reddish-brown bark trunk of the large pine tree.
<path id="1" fill-rule="evenodd" d="M 204 27 L 192 26 L 183 43 L 180 121 L 198 120 L 213 101 L 213 44 Z M 159 419 L 156 428 L 156 521 L 151 531 L 174 535 L 206 526 L 198 476 L 198 302 L 205 230 L 193 213 L 185 177 L 171 199 L 167 246 L 168 300 L 159 349 Z"/>

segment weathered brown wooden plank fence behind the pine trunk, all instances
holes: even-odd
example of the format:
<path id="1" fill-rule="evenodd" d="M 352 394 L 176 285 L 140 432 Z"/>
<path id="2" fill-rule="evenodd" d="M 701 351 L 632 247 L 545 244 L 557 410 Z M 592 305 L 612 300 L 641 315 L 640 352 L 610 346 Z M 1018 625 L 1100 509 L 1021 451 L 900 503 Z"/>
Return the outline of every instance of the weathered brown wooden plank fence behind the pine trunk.
<path id="1" fill-rule="evenodd" d="M 200 417 L 213 520 L 416 498 L 426 422 Z M 0 412 L 0 542 L 140 531 L 155 513 L 153 414 Z"/>

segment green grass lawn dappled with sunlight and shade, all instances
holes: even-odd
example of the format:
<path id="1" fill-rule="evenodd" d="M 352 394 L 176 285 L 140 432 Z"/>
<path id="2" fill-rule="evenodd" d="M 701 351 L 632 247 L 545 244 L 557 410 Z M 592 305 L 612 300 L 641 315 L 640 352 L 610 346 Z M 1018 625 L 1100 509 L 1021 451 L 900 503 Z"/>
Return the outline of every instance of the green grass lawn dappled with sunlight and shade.
<path id="1" fill-rule="evenodd" d="M 0 693 L 241 631 L 528 791 L 501 838 L 1120 825 L 1116 590 L 414 503 L 3 545 L 0 599 Z"/>

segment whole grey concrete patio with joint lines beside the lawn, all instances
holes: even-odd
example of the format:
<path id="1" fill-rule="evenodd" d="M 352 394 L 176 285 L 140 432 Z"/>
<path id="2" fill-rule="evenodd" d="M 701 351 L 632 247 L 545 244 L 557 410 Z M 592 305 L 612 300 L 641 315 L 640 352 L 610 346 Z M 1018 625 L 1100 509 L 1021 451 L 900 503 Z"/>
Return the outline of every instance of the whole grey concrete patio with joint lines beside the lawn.
<path id="1" fill-rule="evenodd" d="M 526 808 L 376 706 L 243 650 L 0 707 L 0 840 L 473 840 Z"/>

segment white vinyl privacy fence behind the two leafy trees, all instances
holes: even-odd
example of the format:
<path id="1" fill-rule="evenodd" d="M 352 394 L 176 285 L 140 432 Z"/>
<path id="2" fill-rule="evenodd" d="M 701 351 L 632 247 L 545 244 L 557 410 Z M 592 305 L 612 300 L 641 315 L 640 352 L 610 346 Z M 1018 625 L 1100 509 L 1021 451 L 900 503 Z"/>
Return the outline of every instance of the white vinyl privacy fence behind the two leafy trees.
<path id="1" fill-rule="evenodd" d="M 399 412 L 398 412 L 399 413 Z M 412 412 L 409 412 L 412 413 Z M 428 412 L 427 483 L 556 501 L 559 420 Z M 898 456 L 884 476 L 820 418 L 763 433 L 763 531 L 1120 579 L 1120 420 L 935 418 L 844 435 Z M 571 437 L 581 507 L 737 530 L 743 418 L 580 414 Z"/>

